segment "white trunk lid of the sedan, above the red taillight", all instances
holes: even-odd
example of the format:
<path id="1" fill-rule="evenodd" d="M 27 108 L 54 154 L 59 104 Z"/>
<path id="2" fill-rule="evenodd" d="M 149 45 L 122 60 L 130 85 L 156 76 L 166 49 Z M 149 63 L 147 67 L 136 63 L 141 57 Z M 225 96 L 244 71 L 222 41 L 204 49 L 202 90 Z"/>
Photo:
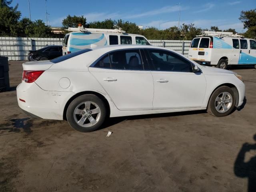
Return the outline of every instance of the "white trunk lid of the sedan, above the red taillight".
<path id="1" fill-rule="evenodd" d="M 54 63 L 50 61 L 30 61 L 22 64 L 23 70 L 36 71 L 36 70 L 47 70 Z"/>

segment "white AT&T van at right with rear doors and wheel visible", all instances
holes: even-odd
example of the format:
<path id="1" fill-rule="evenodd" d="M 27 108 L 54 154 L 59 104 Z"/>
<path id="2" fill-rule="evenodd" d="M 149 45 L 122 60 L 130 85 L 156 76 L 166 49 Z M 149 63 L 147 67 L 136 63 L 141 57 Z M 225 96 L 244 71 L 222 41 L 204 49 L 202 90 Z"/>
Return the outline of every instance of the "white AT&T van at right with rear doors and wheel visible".
<path id="1" fill-rule="evenodd" d="M 195 62 L 226 69 L 228 65 L 256 64 L 256 41 L 232 32 L 210 32 L 194 38 L 188 58 Z"/>

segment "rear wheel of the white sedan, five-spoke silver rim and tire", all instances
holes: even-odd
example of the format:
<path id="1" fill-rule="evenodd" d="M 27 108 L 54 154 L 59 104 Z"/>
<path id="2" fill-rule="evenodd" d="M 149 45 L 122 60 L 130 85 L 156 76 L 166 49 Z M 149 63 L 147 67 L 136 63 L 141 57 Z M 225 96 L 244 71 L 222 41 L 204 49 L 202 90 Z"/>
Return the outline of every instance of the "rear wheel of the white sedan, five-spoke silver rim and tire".
<path id="1" fill-rule="evenodd" d="M 93 94 L 75 98 L 67 109 L 67 120 L 72 128 L 79 132 L 97 130 L 106 118 L 104 102 Z"/>

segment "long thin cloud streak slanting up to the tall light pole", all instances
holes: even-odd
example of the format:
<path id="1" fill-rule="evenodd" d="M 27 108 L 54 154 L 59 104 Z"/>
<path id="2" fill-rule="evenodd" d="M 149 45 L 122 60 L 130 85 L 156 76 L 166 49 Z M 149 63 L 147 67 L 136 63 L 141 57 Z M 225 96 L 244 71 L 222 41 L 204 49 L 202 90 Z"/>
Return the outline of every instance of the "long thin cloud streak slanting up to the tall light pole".
<path id="1" fill-rule="evenodd" d="M 138 17 L 146 17 L 146 16 L 153 16 L 153 15 L 158 15 L 158 14 L 163 14 L 163 13 L 170 13 L 170 12 L 175 12 L 179 11 L 180 7 L 179 6 L 165 6 L 160 9 L 155 9 L 147 12 L 142 12 L 140 14 L 131 14 L 126 15 L 123 18 L 125 19 L 132 19 L 132 18 L 138 18 Z M 181 7 L 182 10 L 186 10 L 187 7 Z"/>

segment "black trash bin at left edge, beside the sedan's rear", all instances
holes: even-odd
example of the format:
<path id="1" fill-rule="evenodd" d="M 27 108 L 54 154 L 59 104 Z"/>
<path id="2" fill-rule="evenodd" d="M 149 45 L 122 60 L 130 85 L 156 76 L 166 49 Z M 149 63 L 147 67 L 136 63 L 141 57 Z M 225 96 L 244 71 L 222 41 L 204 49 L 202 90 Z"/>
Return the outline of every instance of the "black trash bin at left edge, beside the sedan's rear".
<path id="1" fill-rule="evenodd" d="M 0 91 L 10 89 L 8 57 L 0 56 Z"/>

